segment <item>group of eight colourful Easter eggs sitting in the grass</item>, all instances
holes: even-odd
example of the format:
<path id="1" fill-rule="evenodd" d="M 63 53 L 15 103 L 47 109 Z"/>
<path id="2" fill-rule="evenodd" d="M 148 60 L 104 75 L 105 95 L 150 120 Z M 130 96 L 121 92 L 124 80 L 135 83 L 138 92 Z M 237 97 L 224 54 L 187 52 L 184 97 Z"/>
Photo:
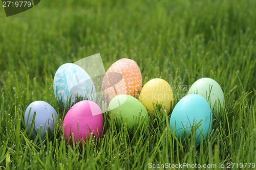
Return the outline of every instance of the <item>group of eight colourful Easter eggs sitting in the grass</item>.
<path id="1" fill-rule="evenodd" d="M 112 72 L 121 74 L 121 78 L 118 75 L 111 76 Z M 67 139 L 72 133 L 76 140 L 81 138 L 86 140 L 90 135 L 89 132 L 93 132 L 95 136 L 101 135 L 102 110 L 95 103 L 96 88 L 87 72 L 78 65 L 63 64 L 56 71 L 53 85 L 60 107 L 66 105 L 69 97 L 71 97 L 71 104 L 75 103 L 75 96 L 84 97 L 83 101 L 70 108 L 63 120 L 62 128 Z M 172 87 L 165 80 L 152 79 L 142 88 L 139 66 L 131 59 L 121 59 L 111 65 L 102 79 L 101 90 L 104 100 L 110 101 L 108 111 L 119 114 L 121 121 L 126 123 L 128 128 L 134 127 L 142 117 L 147 119 L 148 115 L 154 115 L 156 104 L 167 113 L 174 104 Z M 201 134 L 206 135 L 211 130 L 211 110 L 218 113 L 225 106 L 224 94 L 220 85 L 210 78 L 197 80 L 187 94 L 174 107 L 169 125 L 172 131 L 183 139 L 184 132 L 189 134 L 191 126 L 197 125 L 196 143 L 199 144 Z M 31 103 L 25 111 L 25 124 L 29 125 L 28 131 L 35 111 L 35 131 L 37 132 L 40 126 L 44 126 L 40 131 L 40 135 L 44 136 L 48 126 L 51 131 L 54 129 L 53 122 L 56 123 L 57 112 L 44 101 Z"/>

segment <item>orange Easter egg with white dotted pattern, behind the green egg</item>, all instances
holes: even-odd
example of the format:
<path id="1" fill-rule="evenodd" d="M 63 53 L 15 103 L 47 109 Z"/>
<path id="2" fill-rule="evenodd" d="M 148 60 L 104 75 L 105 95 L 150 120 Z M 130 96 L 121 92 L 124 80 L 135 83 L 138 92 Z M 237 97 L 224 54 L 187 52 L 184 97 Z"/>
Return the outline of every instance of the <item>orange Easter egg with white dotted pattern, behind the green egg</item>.
<path id="1" fill-rule="evenodd" d="M 109 76 L 109 73 L 122 74 L 121 81 L 117 82 L 117 76 Z M 114 86 L 112 82 L 117 82 Z M 128 94 L 137 98 L 141 90 L 142 77 L 138 64 L 131 59 L 123 58 L 113 63 L 106 71 L 102 80 L 101 89 L 104 90 L 104 98 L 111 101 L 114 96 L 119 94 Z"/>

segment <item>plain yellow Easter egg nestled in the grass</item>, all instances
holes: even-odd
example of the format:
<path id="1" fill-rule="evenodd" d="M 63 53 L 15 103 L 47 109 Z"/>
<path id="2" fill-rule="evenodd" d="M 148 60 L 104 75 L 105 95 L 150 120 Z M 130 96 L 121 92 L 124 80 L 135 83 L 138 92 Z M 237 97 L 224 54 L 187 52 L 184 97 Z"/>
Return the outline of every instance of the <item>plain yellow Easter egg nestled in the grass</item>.
<path id="1" fill-rule="evenodd" d="M 172 87 L 163 79 L 152 79 L 141 89 L 139 101 L 150 115 L 154 114 L 154 105 L 161 105 L 161 110 L 169 113 L 174 104 Z"/>

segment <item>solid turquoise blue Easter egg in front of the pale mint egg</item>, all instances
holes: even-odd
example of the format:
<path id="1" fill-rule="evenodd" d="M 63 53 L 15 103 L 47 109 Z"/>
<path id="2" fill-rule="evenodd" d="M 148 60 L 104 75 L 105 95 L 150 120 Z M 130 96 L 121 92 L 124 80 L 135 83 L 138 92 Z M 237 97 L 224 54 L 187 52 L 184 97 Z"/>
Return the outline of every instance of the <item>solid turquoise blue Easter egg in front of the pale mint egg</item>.
<path id="1" fill-rule="evenodd" d="M 201 137 L 207 138 L 211 132 L 211 109 L 208 102 L 198 94 L 184 96 L 174 107 L 170 116 L 170 128 L 175 135 L 185 138 L 184 132 L 190 134 L 191 127 L 196 128 L 196 144 L 200 144 Z M 193 131 L 194 132 L 194 131 Z M 203 140 L 204 140 L 203 138 Z"/>

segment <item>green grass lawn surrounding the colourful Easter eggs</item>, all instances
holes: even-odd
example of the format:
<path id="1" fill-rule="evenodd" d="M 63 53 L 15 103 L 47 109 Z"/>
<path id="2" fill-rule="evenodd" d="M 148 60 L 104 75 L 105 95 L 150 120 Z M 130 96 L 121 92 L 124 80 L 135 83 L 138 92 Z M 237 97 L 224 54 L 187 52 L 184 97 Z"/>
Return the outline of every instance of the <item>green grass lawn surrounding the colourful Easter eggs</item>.
<path id="1" fill-rule="evenodd" d="M 256 163 L 256 1 L 41 1 L 11 17 L 0 9 L 0 169 Z M 61 130 L 67 111 L 59 109 L 53 77 L 61 64 L 97 53 L 105 70 L 130 58 L 143 84 L 166 80 L 174 104 L 197 79 L 215 79 L 226 107 L 214 116 L 209 138 L 198 146 L 180 141 L 166 113 L 132 130 L 105 113 L 99 140 L 81 149 L 69 145 Z M 24 113 L 36 100 L 51 104 L 60 119 L 54 133 L 30 139 Z"/>

